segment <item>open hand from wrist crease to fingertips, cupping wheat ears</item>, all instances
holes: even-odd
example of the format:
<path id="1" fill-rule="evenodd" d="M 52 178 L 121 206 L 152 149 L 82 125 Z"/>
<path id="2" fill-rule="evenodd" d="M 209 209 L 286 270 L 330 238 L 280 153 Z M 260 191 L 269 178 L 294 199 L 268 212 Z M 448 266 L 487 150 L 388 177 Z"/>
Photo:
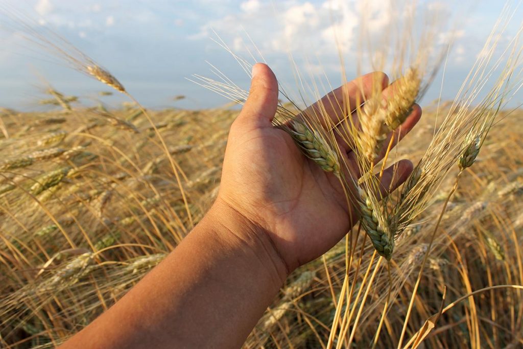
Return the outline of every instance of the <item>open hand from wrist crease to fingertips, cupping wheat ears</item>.
<path id="1" fill-rule="evenodd" d="M 337 123 L 344 108 L 335 110 L 334 106 L 346 100 L 342 95 L 348 96 L 350 106 L 355 106 L 357 101 L 365 100 L 361 97 L 368 95 L 376 82 L 382 84 L 385 96 L 391 92 L 386 90 L 388 77 L 375 72 L 336 89 L 310 108 L 319 108 L 322 103 L 328 117 Z M 259 236 L 265 235 L 269 248 L 274 248 L 281 258 L 271 263 L 283 264 L 290 273 L 331 249 L 358 216 L 354 202 L 347 202 L 339 179 L 305 157 L 287 132 L 272 126 L 277 104 L 276 77 L 268 66 L 258 63 L 253 67 L 249 97 L 229 133 L 214 209 L 220 212 L 224 225 L 230 219 L 243 220 L 232 224 L 244 227 L 243 231 L 230 229 L 240 238 L 242 234 L 254 234 L 257 239 L 265 239 Z M 421 109 L 415 105 L 396 130 L 395 140 L 408 133 L 420 116 Z M 349 144 L 340 140 L 338 145 L 343 151 L 340 161 L 347 164 L 351 174 L 359 176 Z M 411 172 L 412 163 L 406 160 L 387 168 L 381 177 L 382 194 L 401 185 Z"/>

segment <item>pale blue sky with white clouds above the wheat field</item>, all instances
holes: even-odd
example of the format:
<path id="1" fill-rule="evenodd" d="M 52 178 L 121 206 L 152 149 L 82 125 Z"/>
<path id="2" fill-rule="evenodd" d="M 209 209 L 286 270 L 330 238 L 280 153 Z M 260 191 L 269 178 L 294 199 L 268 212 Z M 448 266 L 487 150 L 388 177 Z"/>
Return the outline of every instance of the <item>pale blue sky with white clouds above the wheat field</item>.
<path id="1" fill-rule="evenodd" d="M 384 28 L 389 28 L 401 14 L 395 8 L 387 8 L 386 1 L 371 0 L 366 6 L 361 3 L 354 0 L 0 0 L 0 106 L 37 108 L 38 99 L 45 97 L 44 81 L 65 94 L 81 96 L 84 103 L 92 103 L 99 98 L 97 92 L 108 90 L 70 69 L 56 56 L 21 39 L 17 33 L 19 25 L 9 19 L 14 13 L 27 15 L 36 28 L 44 25 L 69 40 L 105 66 L 146 106 L 205 108 L 227 102 L 186 79 L 192 74 L 211 76 L 206 61 L 219 67 L 239 86 L 248 88 L 248 76 L 229 53 L 210 39 L 214 37 L 213 30 L 246 58 L 250 58 L 249 52 L 254 49 L 249 42 L 252 39 L 291 93 L 297 93 L 298 89 L 289 53 L 305 75 L 312 74 L 324 84 L 326 76 L 333 87 L 340 84 L 334 32 L 342 41 L 346 76 L 353 78 L 372 70 L 365 62 L 358 69 L 355 54 L 361 13 L 369 14 L 371 41 L 383 40 Z M 438 43 L 451 32 L 456 33 L 442 92 L 444 99 L 452 99 L 501 13 L 503 2 L 419 3 L 421 12 L 428 15 L 416 19 L 416 35 L 427 18 L 439 15 L 448 19 L 448 24 L 441 25 L 434 38 L 434 54 L 440 48 Z M 521 11 L 516 12 L 502 42 L 514 36 L 522 18 Z M 259 59 L 256 53 L 250 61 Z M 385 71 L 388 68 L 380 66 Z M 437 98 L 440 85 L 441 74 L 423 102 Z M 187 98 L 173 102 L 176 95 Z M 121 96 L 115 96 L 104 102 L 116 106 L 122 100 Z M 523 102 L 521 94 L 515 102 Z"/>

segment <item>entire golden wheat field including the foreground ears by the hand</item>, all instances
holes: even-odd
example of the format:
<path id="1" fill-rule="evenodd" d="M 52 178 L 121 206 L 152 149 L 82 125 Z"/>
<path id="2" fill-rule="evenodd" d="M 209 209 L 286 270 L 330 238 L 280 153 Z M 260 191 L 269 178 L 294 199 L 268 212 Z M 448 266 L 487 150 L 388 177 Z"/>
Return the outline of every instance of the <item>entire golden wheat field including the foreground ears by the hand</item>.
<path id="1" fill-rule="evenodd" d="M 280 85 L 273 125 L 339 179 L 361 219 L 290 275 L 245 348 L 523 347 L 523 109 L 510 108 L 523 87 L 523 27 L 506 41 L 494 27 L 456 99 L 425 103 L 392 150 L 451 46 L 436 47 L 434 23 L 417 37 L 419 19 L 407 17 L 396 37 L 382 38 L 397 49 L 390 89 L 342 110 L 336 125 L 325 105 L 305 109 Z M 497 25 L 510 18 L 506 7 Z M 66 40 L 21 27 L 36 47 L 116 90 L 99 92 L 93 106 L 48 84 L 38 101 L 47 111 L 0 109 L 0 347 L 47 348 L 111 307 L 202 219 L 248 92 L 211 65 L 218 81 L 192 80 L 231 103 L 147 109 Z M 252 62 L 215 41 L 248 74 Z M 382 53 L 368 46 L 360 60 Z M 376 57 L 384 70 L 388 59 Z M 298 95 L 317 99 L 312 81 Z M 112 93 L 130 102 L 110 106 Z M 349 125 L 350 112 L 358 125 Z M 354 149 L 361 178 L 347 176 L 339 139 Z M 383 169 L 399 159 L 414 171 L 382 198 Z"/>

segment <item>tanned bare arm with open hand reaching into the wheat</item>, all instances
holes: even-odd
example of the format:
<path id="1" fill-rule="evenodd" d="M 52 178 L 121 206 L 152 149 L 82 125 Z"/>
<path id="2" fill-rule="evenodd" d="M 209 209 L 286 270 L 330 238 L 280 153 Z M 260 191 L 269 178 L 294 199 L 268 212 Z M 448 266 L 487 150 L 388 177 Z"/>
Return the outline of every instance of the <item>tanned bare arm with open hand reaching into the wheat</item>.
<path id="1" fill-rule="evenodd" d="M 337 105 L 328 101 L 342 100 L 343 93 L 355 105 L 360 87 L 368 92 L 376 80 L 387 85 L 384 74 L 368 74 L 324 97 L 323 105 Z M 358 219 L 355 207 L 334 174 L 271 125 L 277 103 L 276 77 L 266 65 L 255 65 L 212 208 L 162 263 L 64 348 L 241 347 L 288 273 L 343 238 Z M 343 115 L 325 111 L 333 119 Z M 415 107 L 395 139 L 420 114 Z M 358 176 L 346 143 L 339 142 L 340 160 Z M 411 171 L 410 162 L 400 161 L 385 170 L 382 187 L 395 188 Z"/>

